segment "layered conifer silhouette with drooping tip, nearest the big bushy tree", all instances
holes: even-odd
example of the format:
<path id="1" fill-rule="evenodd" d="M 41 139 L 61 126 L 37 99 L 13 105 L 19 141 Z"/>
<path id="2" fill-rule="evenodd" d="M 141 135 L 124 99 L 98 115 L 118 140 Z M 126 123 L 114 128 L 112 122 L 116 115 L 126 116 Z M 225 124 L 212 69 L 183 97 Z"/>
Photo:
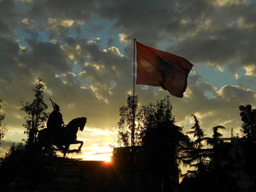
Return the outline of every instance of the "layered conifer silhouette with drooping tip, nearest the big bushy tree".
<path id="1" fill-rule="evenodd" d="M 193 131 L 187 132 L 188 134 L 193 134 L 195 137 L 195 141 L 193 142 L 193 148 L 189 152 L 189 158 L 186 161 L 186 164 L 192 166 L 195 170 L 189 170 L 187 172 L 187 176 L 196 177 L 200 176 L 203 172 L 206 171 L 208 161 L 206 158 L 208 157 L 208 150 L 206 150 L 203 146 L 203 140 L 205 134 L 203 133 L 203 129 L 200 128 L 199 120 L 195 115 L 192 115 L 195 124 L 192 126 Z"/>

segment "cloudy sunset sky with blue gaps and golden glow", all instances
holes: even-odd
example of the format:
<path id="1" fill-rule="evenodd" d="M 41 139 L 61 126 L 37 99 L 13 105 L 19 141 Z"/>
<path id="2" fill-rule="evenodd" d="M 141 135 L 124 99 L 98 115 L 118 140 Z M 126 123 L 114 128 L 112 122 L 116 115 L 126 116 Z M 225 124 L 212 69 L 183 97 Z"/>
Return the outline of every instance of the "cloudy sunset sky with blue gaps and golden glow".
<path id="1" fill-rule="evenodd" d="M 45 80 L 64 123 L 86 117 L 76 158 L 104 160 L 117 146 L 118 109 L 132 93 L 133 39 L 194 66 L 184 98 L 170 96 L 176 124 L 200 120 L 206 136 L 225 126 L 241 135 L 238 107 L 256 107 L 256 4 L 249 0 L 0 0 L 0 99 L 8 129 L 0 155 L 26 138 L 20 101 Z M 136 85 L 139 105 L 170 95 Z"/>

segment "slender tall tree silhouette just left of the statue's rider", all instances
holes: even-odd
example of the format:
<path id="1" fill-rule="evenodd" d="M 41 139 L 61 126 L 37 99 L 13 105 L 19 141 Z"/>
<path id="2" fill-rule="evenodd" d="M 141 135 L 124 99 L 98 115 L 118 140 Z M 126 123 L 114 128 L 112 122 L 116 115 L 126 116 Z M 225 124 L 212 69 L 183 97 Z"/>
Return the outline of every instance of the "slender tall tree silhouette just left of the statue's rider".
<path id="1" fill-rule="evenodd" d="M 28 135 L 28 145 L 34 145 L 38 131 L 45 127 L 45 121 L 48 118 L 48 113 L 45 112 L 48 106 L 44 101 L 44 89 L 45 82 L 42 78 L 39 78 L 33 89 L 35 99 L 31 103 L 26 102 L 26 104 L 23 104 L 21 109 L 28 115 L 25 118 L 26 123 L 23 124 L 26 128 L 25 133 Z"/>

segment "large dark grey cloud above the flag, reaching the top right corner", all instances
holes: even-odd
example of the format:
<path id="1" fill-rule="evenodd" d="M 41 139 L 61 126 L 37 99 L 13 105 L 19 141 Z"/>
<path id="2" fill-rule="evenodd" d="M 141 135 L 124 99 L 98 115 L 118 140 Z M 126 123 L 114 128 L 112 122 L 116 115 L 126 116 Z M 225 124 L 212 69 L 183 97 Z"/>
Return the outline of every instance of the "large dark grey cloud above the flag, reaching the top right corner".
<path id="1" fill-rule="evenodd" d="M 255 10 L 255 4 L 242 2 L 105 1 L 99 15 L 115 19 L 128 39 L 137 37 L 151 46 L 174 42 L 167 50 L 193 62 L 223 65 L 235 60 L 229 66 L 235 72 L 238 66 L 255 64 Z"/>

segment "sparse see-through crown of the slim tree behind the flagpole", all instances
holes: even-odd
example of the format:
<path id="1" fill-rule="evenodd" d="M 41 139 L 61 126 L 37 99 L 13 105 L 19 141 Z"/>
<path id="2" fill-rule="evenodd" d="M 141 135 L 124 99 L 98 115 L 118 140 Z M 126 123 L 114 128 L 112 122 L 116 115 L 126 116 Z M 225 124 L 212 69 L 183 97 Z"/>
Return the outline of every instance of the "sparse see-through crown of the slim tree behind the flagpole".
<path id="1" fill-rule="evenodd" d="M 119 108 L 120 120 L 118 122 L 118 145 L 140 145 L 140 133 L 135 124 L 138 109 L 138 96 L 128 96 L 127 106 Z"/>

